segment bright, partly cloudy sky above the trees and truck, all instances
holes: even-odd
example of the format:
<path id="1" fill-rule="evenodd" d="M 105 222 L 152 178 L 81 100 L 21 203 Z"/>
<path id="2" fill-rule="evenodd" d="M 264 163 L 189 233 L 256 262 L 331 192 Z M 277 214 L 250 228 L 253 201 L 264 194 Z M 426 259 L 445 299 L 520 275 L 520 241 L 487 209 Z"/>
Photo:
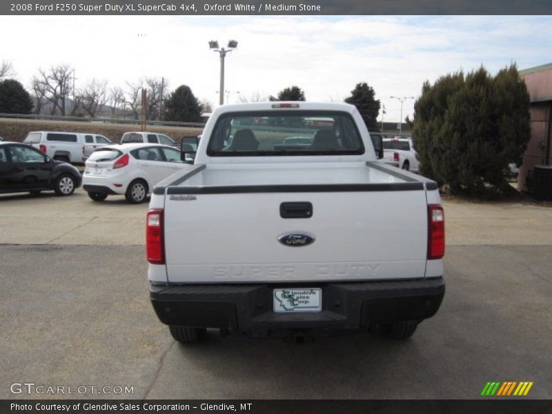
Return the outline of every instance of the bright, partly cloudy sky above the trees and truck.
<path id="1" fill-rule="evenodd" d="M 125 86 L 164 77 L 218 104 L 219 55 L 208 41 L 238 46 L 226 57 L 229 101 L 297 85 L 309 101 L 341 101 L 367 82 L 400 119 L 391 96 L 418 97 L 422 83 L 484 65 L 492 73 L 552 62 L 552 17 L 524 16 L 0 16 L 0 61 L 29 88 L 39 68 L 67 63 L 77 88 L 92 78 Z M 413 100 L 403 116 L 412 116 Z"/>

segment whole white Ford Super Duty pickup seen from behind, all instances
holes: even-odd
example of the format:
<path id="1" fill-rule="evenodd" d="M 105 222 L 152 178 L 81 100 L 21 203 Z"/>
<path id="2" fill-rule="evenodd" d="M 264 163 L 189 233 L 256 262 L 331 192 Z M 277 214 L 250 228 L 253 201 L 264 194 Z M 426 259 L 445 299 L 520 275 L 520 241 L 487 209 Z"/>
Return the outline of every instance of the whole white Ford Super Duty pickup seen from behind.
<path id="1" fill-rule="evenodd" d="M 150 299 L 177 341 L 404 339 L 437 312 L 437 184 L 377 161 L 354 106 L 221 106 L 184 147 L 195 161 L 155 187 L 146 229 Z"/>

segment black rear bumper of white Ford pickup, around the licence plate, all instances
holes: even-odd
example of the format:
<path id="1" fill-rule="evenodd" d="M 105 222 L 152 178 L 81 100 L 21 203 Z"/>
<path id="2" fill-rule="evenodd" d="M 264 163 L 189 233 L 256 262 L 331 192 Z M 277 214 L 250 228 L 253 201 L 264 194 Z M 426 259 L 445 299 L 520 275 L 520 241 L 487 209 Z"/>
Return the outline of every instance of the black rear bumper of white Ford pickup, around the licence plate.
<path id="1" fill-rule="evenodd" d="M 164 324 L 241 332 L 359 331 L 374 324 L 435 315 L 444 297 L 442 277 L 393 282 L 308 284 L 322 288 L 322 312 L 274 313 L 273 288 L 300 285 L 150 285 Z"/>

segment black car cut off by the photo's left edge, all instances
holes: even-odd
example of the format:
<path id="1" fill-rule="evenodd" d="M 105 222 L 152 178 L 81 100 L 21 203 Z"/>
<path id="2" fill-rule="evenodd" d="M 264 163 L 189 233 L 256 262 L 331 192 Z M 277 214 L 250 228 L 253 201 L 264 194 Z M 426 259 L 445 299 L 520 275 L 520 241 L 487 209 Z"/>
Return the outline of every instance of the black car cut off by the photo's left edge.
<path id="1" fill-rule="evenodd" d="M 17 142 L 0 142 L 0 193 L 40 193 L 54 190 L 71 195 L 81 185 L 81 174 L 66 162 Z"/>

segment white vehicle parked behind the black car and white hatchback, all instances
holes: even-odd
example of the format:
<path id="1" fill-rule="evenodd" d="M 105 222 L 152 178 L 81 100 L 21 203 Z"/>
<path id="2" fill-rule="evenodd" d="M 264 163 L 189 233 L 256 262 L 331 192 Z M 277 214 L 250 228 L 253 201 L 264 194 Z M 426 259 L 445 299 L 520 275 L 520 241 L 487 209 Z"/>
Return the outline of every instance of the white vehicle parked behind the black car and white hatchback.
<path id="1" fill-rule="evenodd" d="M 83 163 L 93 150 L 112 142 L 103 135 L 83 132 L 33 131 L 23 144 L 28 144 L 50 158 L 71 163 Z"/>

